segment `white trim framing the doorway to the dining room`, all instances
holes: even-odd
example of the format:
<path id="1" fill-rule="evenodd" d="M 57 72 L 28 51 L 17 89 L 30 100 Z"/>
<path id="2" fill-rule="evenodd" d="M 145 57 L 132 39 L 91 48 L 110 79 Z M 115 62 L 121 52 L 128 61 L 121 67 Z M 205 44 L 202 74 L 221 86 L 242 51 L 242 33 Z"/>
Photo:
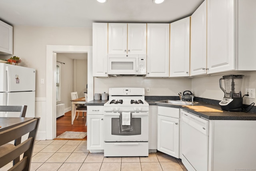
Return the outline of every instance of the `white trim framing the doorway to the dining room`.
<path id="1" fill-rule="evenodd" d="M 88 101 L 93 100 L 92 46 L 46 45 L 46 139 L 56 137 L 56 56 L 59 53 L 88 53 Z M 56 83 L 55 83 L 56 84 Z M 53 105 L 54 104 L 54 105 Z M 71 123 L 70 123 L 71 124 Z"/>

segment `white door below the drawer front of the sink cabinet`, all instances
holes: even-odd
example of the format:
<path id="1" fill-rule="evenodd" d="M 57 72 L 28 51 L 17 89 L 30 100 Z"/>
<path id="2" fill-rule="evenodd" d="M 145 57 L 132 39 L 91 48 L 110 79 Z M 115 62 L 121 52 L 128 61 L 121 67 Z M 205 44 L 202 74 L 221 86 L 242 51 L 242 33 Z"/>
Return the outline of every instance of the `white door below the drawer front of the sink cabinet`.
<path id="1" fill-rule="evenodd" d="M 179 119 L 158 115 L 157 149 L 179 158 Z"/>

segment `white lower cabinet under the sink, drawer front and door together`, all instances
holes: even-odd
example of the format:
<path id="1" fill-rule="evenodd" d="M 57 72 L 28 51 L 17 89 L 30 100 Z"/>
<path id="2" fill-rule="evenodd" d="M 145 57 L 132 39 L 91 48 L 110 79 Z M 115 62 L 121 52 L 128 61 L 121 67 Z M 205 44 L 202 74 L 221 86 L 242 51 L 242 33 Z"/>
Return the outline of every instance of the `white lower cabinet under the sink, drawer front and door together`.
<path id="1" fill-rule="evenodd" d="M 158 106 L 157 149 L 179 158 L 180 109 Z"/>

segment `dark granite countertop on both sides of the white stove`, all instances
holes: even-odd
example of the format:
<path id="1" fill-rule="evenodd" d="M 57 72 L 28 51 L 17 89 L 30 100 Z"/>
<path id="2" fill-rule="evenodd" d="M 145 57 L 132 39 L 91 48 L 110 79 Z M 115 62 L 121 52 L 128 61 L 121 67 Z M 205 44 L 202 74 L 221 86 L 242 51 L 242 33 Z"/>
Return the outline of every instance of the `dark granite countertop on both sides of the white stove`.
<path id="1" fill-rule="evenodd" d="M 251 112 L 247 112 L 247 113 L 242 111 L 197 112 L 197 111 L 194 111 L 193 109 L 189 109 L 188 107 L 182 107 L 181 105 L 156 103 L 156 101 L 161 101 L 166 99 L 178 100 L 179 97 L 177 96 L 145 96 L 145 100 L 148 102 L 149 105 L 180 108 L 209 120 L 256 120 L 256 113 L 251 113 Z M 218 101 L 216 100 L 202 99 L 202 98 L 196 98 L 196 97 L 195 97 L 195 100 L 199 102 L 196 105 L 202 105 L 202 106 L 221 110 L 221 107 L 219 105 L 216 105 L 218 104 Z M 86 103 L 86 105 L 103 106 L 104 103 L 106 103 L 107 101 L 108 100 L 92 100 Z M 255 107 L 252 111 L 254 110 L 255 110 Z"/>

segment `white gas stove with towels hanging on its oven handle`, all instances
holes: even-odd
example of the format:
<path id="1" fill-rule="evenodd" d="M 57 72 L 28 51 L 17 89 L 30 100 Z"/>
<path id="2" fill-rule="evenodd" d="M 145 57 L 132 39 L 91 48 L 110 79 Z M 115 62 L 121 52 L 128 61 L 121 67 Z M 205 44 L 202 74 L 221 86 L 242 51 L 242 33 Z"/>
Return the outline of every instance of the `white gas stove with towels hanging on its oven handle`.
<path id="1" fill-rule="evenodd" d="M 148 156 L 149 105 L 144 94 L 144 88 L 109 89 L 104 104 L 104 156 Z M 123 124 L 124 117 L 128 124 Z"/>

